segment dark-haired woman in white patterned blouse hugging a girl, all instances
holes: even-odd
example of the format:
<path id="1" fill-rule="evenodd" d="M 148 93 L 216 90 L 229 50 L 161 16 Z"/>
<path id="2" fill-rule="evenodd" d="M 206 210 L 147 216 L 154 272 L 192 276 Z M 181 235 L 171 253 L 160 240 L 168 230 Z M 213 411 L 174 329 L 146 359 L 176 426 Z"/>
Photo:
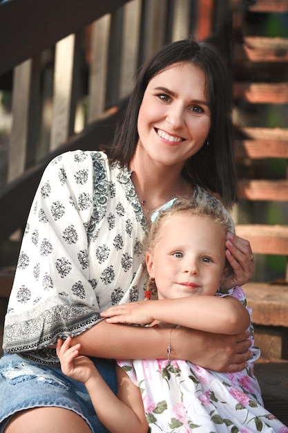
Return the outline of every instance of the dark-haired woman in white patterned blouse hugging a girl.
<path id="1" fill-rule="evenodd" d="M 142 239 L 152 210 L 184 194 L 222 206 L 206 190 L 227 206 L 235 201 L 227 82 L 214 48 L 194 40 L 170 44 L 140 70 L 108 158 L 76 151 L 48 165 L 6 315 L 0 432 L 106 431 L 84 385 L 61 374 L 57 338 L 75 335 L 90 357 L 166 357 L 169 330 L 112 325 L 99 313 L 144 298 Z M 227 287 L 247 282 L 249 243 L 229 234 L 226 255 L 234 270 Z M 175 334 L 175 358 L 202 367 L 239 371 L 250 358 L 248 332 L 216 337 L 182 328 Z M 94 361 L 115 390 L 113 362 Z"/>

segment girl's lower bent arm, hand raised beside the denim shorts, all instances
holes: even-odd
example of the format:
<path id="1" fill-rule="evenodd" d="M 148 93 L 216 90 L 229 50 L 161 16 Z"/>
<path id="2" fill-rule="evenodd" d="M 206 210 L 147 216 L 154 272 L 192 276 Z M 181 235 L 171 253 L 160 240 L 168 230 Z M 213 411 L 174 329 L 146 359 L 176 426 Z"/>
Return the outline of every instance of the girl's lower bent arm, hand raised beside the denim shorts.
<path id="1" fill-rule="evenodd" d="M 84 383 L 99 420 L 109 432 L 147 433 L 140 389 L 125 371 L 117 365 L 118 395 L 115 396 L 93 362 L 86 356 L 79 356 L 81 345 L 70 347 L 71 342 L 70 337 L 65 342 L 57 342 L 61 369 L 67 376 Z"/>

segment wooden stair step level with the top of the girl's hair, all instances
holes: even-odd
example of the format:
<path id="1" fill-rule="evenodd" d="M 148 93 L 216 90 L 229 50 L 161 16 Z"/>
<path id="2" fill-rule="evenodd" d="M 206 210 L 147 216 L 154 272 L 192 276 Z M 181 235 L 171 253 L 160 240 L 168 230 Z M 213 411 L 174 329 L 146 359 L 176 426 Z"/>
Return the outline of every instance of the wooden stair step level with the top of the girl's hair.
<path id="1" fill-rule="evenodd" d="M 238 190 L 240 199 L 252 201 L 288 201 L 288 180 L 239 179 Z"/>

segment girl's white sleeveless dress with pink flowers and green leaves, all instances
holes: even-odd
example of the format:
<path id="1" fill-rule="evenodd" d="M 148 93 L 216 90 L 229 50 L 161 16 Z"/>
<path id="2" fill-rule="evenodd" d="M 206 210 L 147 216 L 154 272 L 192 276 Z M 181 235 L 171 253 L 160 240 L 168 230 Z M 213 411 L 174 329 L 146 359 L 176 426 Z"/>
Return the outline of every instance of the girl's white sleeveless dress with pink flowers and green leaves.
<path id="1" fill-rule="evenodd" d="M 247 306 L 240 287 L 218 295 L 233 295 Z M 250 331 L 255 361 L 260 350 L 253 346 L 252 324 Z M 140 387 L 153 433 L 288 433 L 263 406 L 253 362 L 233 374 L 216 373 L 184 360 L 121 360 L 118 364 Z"/>

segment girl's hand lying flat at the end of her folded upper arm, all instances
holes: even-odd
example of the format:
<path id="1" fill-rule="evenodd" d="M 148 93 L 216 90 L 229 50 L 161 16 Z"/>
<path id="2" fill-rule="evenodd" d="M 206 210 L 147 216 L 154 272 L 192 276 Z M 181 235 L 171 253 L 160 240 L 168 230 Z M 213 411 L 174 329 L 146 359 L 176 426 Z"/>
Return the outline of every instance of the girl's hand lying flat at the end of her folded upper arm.
<path id="1" fill-rule="evenodd" d="M 148 324 L 155 319 L 150 312 L 153 302 L 155 301 L 119 304 L 111 306 L 100 315 L 106 317 L 108 323 Z"/>

